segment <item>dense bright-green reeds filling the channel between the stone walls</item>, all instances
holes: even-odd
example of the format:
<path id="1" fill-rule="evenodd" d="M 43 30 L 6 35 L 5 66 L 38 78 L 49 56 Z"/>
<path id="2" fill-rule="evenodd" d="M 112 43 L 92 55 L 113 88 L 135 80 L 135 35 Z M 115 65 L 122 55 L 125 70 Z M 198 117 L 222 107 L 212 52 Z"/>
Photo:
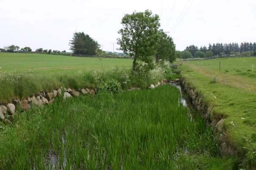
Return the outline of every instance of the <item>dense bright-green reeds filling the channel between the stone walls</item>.
<path id="1" fill-rule="evenodd" d="M 0 126 L 0 169 L 232 169 L 173 86 L 56 100 Z"/>

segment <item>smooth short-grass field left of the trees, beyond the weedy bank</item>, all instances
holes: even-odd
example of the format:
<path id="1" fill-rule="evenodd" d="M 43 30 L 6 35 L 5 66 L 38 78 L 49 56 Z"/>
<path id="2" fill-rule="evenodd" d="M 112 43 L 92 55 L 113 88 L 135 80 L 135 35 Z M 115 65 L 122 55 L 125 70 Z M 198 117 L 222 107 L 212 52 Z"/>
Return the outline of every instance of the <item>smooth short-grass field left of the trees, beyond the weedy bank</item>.
<path id="1" fill-rule="evenodd" d="M 67 74 L 79 70 L 131 67 L 131 59 L 70 57 L 51 54 L 0 53 L 0 71 L 29 74 Z"/>

